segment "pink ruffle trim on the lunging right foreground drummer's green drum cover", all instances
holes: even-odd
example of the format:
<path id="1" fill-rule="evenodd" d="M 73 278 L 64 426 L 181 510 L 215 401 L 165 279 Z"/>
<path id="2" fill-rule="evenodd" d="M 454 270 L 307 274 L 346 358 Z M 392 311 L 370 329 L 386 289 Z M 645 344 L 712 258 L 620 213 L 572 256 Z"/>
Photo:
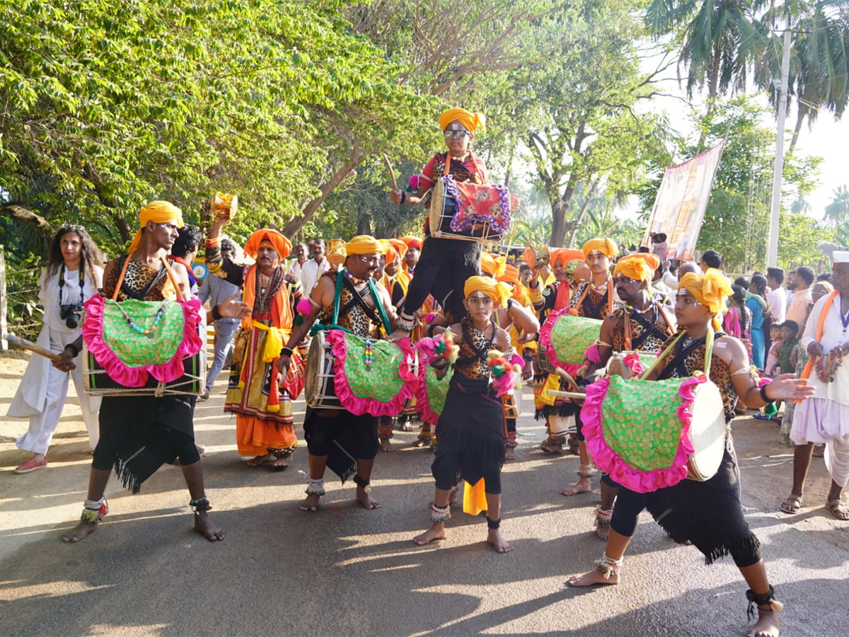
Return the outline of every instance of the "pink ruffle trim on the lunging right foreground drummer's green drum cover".
<path id="1" fill-rule="evenodd" d="M 678 441 L 678 451 L 672 466 L 667 469 L 654 471 L 638 471 L 627 465 L 619 454 L 610 448 L 604 440 L 604 424 L 602 419 L 602 404 L 610 379 L 602 379 L 587 387 L 587 399 L 581 409 L 583 435 L 587 439 L 587 450 L 593 462 L 601 469 L 610 473 L 616 482 L 637 493 L 650 493 L 661 488 L 672 487 L 687 477 L 687 456 L 693 453 L 693 443 L 689 439 L 689 427 L 693 419 L 693 387 L 706 382 L 705 375 L 693 377 L 684 381 L 679 393 L 683 402 L 678 407 L 678 420 L 681 421 L 681 437 Z"/>

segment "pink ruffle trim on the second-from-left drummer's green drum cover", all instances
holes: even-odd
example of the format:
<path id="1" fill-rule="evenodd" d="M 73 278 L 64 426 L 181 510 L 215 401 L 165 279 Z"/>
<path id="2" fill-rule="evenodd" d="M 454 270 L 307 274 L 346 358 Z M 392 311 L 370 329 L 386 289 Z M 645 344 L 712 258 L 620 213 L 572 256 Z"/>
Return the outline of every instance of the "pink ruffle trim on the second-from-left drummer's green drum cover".
<path id="1" fill-rule="evenodd" d="M 335 357 L 333 370 L 335 372 L 334 384 L 336 397 L 339 398 L 340 403 L 342 403 L 345 409 L 357 416 L 363 414 L 395 416 L 402 412 L 404 404 L 407 403 L 409 398 L 415 395 L 416 386 L 419 384 L 419 377 L 413 374 L 412 363 L 415 358 L 415 352 L 413 351 L 413 344 L 408 338 L 402 338 L 400 341 L 396 341 L 396 345 L 404 353 L 404 358 L 401 364 L 398 365 L 398 375 L 404 381 L 404 385 L 401 391 L 386 403 L 374 398 L 361 398 L 354 395 L 345 375 L 345 360 L 348 355 L 345 332 L 343 330 L 328 330 L 327 340 L 333 349 L 333 355 Z"/>

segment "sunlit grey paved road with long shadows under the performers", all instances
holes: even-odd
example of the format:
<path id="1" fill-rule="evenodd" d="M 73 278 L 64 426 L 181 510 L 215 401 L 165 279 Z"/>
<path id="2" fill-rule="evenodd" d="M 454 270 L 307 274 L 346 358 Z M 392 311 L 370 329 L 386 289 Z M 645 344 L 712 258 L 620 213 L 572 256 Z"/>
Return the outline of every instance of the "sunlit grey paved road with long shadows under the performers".
<path id="1" fill-rule="evenodd" d="M 85 438 L 64 423 L 50 466 L 28 476 L 0 474 L 0 633 L 304 635 L 734 635 L 745 634 L 745 584 L 729 559 L 706 567 L 697 550 L 641 519 L 623 583 L 564 588 L 603 549 L 591 533 L 593 494 L 561 497 L 577 458 L 540 453 L 541 426 L 520 420 L 518 459 L 504 468 L 503 532 L 514 545 L 496 555 L 482 518 L 455 513 L 446 541 L 419 548 L 428 524 L 431 454 L 398 450 L 375 469 L 376 511 L 352 501 L 353 487 L 329 481 L 318 514 L 303 497 L 306 449 L 288 471 L 239 461 L 222 389 L 197 413 L 198 439 L 215 509 L 228 533 L 210 544 L 191 531 L 180 472 L 166 467 L 132 496 L 110 483 L 112 512 L 81 544 L 62 544 L 79 515 L 87 480 Z M 2 402 L 8 397 L 3 396 Z M 0 421 L 0 467 L 20 462 Z M 812 471 L 812 508 L 774 513 L 789 485 L 790 454 L 776 429 L 746 420 L 739 429 L 745 505 L 764 544 L 783 613 L 784 634 L 845 634 L 849 526 L 829 520 L 814 498 L 827 485 Z M 780 493 L 779 493 L 780 492 Z"/>

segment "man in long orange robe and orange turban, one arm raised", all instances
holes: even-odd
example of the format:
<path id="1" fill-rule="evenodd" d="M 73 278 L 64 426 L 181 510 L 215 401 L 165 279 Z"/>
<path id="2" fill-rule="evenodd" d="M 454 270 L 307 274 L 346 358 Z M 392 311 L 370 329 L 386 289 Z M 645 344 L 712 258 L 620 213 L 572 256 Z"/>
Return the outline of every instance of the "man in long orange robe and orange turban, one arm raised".
<path id="1" fill-rule="evenodd" d="M 292 401 L 303 389 L 303 375 L 295 370 L 304 369 L 305 361 L 297 355 L 297 368 L 283 379 L 274 362 L 292 330 L 301 284 L 283 262 L 292 251 L 291 241 L 272 228 L 256 230 L 245 244 L 245 254 L 256 259 L 253 265 L 222 257 L 219 239 L 228 223 L 227 217 L 215 217 L 206 240 L 206 266 L 211 275 L 243 288 L 243 301 L 252 313 L 242 319 L 234 340 L 245 347 L 233 353 L 224 411 L 236 414 L 236 446 L 240 455 L 250 457 L 247 464 L 282 471 L 298 444 Z"/>

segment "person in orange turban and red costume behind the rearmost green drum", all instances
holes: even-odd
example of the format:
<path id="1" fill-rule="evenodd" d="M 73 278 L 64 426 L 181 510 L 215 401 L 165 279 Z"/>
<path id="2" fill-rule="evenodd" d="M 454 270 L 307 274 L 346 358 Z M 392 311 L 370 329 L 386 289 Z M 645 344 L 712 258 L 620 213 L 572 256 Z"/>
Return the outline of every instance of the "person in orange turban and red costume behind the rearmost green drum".
<path id="1" fill-rule="evenodd" d="M 569 307 L 577 287 L 576 271 L 582 264 L 586 268 L 582 251 L 555 249 L 551 251 L 548 263 L 539 262 L 534 265 L 531 280 L 528 283 L 528 295 L 534 309 L 537 310 L 540 323 L 544 323 L 548 314 L 553 311 Z M 552 268 L 554 281 L 543 286 L 540 281 L 548 266 Z M 566 420 L 554 420 L 554 417 L 559 416 L 565 419 L 574 416 L 578 408 L 575 403 L 550 396 L 548 389 L 560 389 L 560 378 L 558 375 L 548 374 L 543 369 L 539 369 L 537 364 L 534 375 L 534 418 L 545 420 L 545 430 L 548 433 L 548 437 L 540 448 L 547 454 L 562 454 L 566 434 L 569 432 L 561 429 L 561 426 L 557 424 L 565 423 Z"/>

